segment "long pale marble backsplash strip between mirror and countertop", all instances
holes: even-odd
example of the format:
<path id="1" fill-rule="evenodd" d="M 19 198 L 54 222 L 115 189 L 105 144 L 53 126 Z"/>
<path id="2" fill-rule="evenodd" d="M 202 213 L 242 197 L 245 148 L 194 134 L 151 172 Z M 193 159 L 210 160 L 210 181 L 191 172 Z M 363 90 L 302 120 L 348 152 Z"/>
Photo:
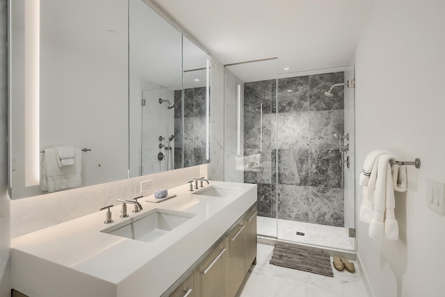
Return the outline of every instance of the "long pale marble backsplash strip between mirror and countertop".
<path id="1" fill-rule="evenodd" d="M 159 188 L 188 186 L 186 182 L 192 177 L 207 177 L 207 164 L 12 200 L 11 238 L 92 214 L 106 205 L 120 204 L 117 199 L 133 199 L 141 194 L 140 182 L 147 179 L 152 180 L 152 188 L 144 193 L 145 196 L 152 195 Z"/>

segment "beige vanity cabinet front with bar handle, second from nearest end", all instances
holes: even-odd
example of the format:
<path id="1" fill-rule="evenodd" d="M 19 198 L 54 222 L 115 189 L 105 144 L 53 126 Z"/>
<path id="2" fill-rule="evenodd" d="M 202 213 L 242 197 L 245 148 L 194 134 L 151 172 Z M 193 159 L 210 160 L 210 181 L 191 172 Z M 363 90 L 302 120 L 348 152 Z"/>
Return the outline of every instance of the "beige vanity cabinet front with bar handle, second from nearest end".
<path id="1" fill-rule="evenodd" d="M 195 270 L 195 297 L 225 297 L 226 241 L 221 241 Z"/>

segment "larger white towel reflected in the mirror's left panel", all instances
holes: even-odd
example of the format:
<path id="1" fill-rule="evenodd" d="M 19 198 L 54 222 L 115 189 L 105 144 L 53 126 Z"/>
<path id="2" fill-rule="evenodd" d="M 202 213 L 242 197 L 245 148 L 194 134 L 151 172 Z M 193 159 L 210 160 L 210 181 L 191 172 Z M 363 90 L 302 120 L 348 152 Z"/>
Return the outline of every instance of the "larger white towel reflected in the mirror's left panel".
<path id="1" fill-rule="evenodd" d="M 40 188 L 42 191 L 54 192 L 65 188 L 82 185 L 82 154 L 81 149 L 74 148 L 75 163 L 72 166 L 58 167 L 56 149 L 44 149 L 42 177 Z"/>

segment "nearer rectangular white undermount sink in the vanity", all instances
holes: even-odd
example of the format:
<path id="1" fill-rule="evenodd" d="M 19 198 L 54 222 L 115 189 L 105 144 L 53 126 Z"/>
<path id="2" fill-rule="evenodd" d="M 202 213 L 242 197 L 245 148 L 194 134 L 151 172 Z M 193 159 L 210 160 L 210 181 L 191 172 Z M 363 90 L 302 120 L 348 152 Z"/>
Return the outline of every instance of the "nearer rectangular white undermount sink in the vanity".
<path id="1" fill-rule="evenodd" d="M 138 241 L 152 242 L 190 220 L 193 216 L 195 214 L 183 211 L 152 209 L 145 214 L 130 218 L 101 232 Z"/>

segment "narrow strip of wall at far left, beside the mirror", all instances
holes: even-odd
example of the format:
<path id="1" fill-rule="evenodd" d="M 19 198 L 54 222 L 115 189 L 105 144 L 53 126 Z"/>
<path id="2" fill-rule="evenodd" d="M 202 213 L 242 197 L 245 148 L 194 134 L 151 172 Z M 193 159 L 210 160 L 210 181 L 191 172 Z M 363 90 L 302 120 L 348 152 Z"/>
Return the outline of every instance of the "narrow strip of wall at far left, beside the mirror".
<path id="1" fill-rule="evenodd" d="M 0 296 L 10 296 L 10 199 L 8 196 L 7 1 L 0 1 Z"/>

